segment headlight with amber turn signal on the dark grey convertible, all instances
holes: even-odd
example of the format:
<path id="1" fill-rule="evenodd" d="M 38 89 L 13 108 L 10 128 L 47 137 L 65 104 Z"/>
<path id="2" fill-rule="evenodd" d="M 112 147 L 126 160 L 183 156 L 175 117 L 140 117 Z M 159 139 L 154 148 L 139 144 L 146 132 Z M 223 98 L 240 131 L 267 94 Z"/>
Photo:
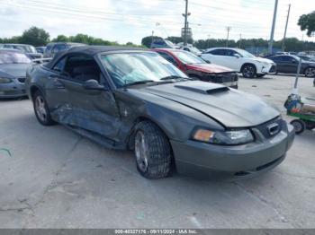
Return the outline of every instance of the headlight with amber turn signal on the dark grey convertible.
<path id="1" fill-rule="evenodd" d="M 193 140 L 209 144 L 237 145 L 253 142 L 254 136 L 247 129 L 235 131 L 211 131 L 200 128 L 193 132 Z"/>

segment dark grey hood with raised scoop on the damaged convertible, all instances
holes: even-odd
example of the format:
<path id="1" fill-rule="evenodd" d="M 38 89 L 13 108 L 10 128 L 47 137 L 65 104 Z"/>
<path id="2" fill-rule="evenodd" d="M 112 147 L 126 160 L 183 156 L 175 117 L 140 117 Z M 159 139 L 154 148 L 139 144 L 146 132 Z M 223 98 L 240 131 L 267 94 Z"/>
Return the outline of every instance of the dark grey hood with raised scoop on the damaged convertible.
<path id="1" fill-rule="evenodd" d="M 195 109 L 230 128 L 257 126 L 280 115 L 257 96 L 215 83 L 170 83 L 141 91 Z"/>

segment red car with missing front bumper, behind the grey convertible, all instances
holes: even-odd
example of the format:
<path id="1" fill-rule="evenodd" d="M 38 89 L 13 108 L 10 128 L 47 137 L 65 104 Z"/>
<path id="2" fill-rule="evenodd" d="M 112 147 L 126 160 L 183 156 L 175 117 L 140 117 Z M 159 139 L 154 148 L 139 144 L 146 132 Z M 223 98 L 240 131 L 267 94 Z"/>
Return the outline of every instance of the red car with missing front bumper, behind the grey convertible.
<path id="1" fill-rule="evenodd" d="M 201 57 L 180 49 L 155 48 L 151 50 L 157 52 L 191 78 L 238 88 L 238 74 L 228 67 L 209 64 Z"/>

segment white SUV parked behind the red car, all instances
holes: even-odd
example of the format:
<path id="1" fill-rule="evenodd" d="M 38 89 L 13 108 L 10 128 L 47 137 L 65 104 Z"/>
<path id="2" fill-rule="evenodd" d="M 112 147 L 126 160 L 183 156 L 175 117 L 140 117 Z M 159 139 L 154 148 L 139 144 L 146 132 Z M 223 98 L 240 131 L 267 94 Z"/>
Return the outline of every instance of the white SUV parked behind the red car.
<path id="1" fill-rule="evenodd" d="M 212 64 L 222 65 L 242 73 L 246 78 L 263 77 L 275 74 L 274 61 L 262 57 L 255 57 L 246 50 L 238 48 L 211 48 L 202 53 L 202 59 Z"/>

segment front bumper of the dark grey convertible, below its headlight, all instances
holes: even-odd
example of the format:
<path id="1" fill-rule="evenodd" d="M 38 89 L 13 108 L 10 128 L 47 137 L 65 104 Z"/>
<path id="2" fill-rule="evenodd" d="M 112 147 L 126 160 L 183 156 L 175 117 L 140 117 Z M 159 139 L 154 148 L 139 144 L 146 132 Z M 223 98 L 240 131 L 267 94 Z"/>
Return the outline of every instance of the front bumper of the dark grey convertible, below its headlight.
<path id="1" fill-rule="evenodd" d="M 220 171 L 240 176 L 270 170 L 280 164 L 293 139 L 293 126 L 285 123 L 285 128 L 275 137 L 251 144 L 221 146 L 190 140 L 185 143 L 171 141 L 171 144 L 178 173 L 204 175 Z"/>

